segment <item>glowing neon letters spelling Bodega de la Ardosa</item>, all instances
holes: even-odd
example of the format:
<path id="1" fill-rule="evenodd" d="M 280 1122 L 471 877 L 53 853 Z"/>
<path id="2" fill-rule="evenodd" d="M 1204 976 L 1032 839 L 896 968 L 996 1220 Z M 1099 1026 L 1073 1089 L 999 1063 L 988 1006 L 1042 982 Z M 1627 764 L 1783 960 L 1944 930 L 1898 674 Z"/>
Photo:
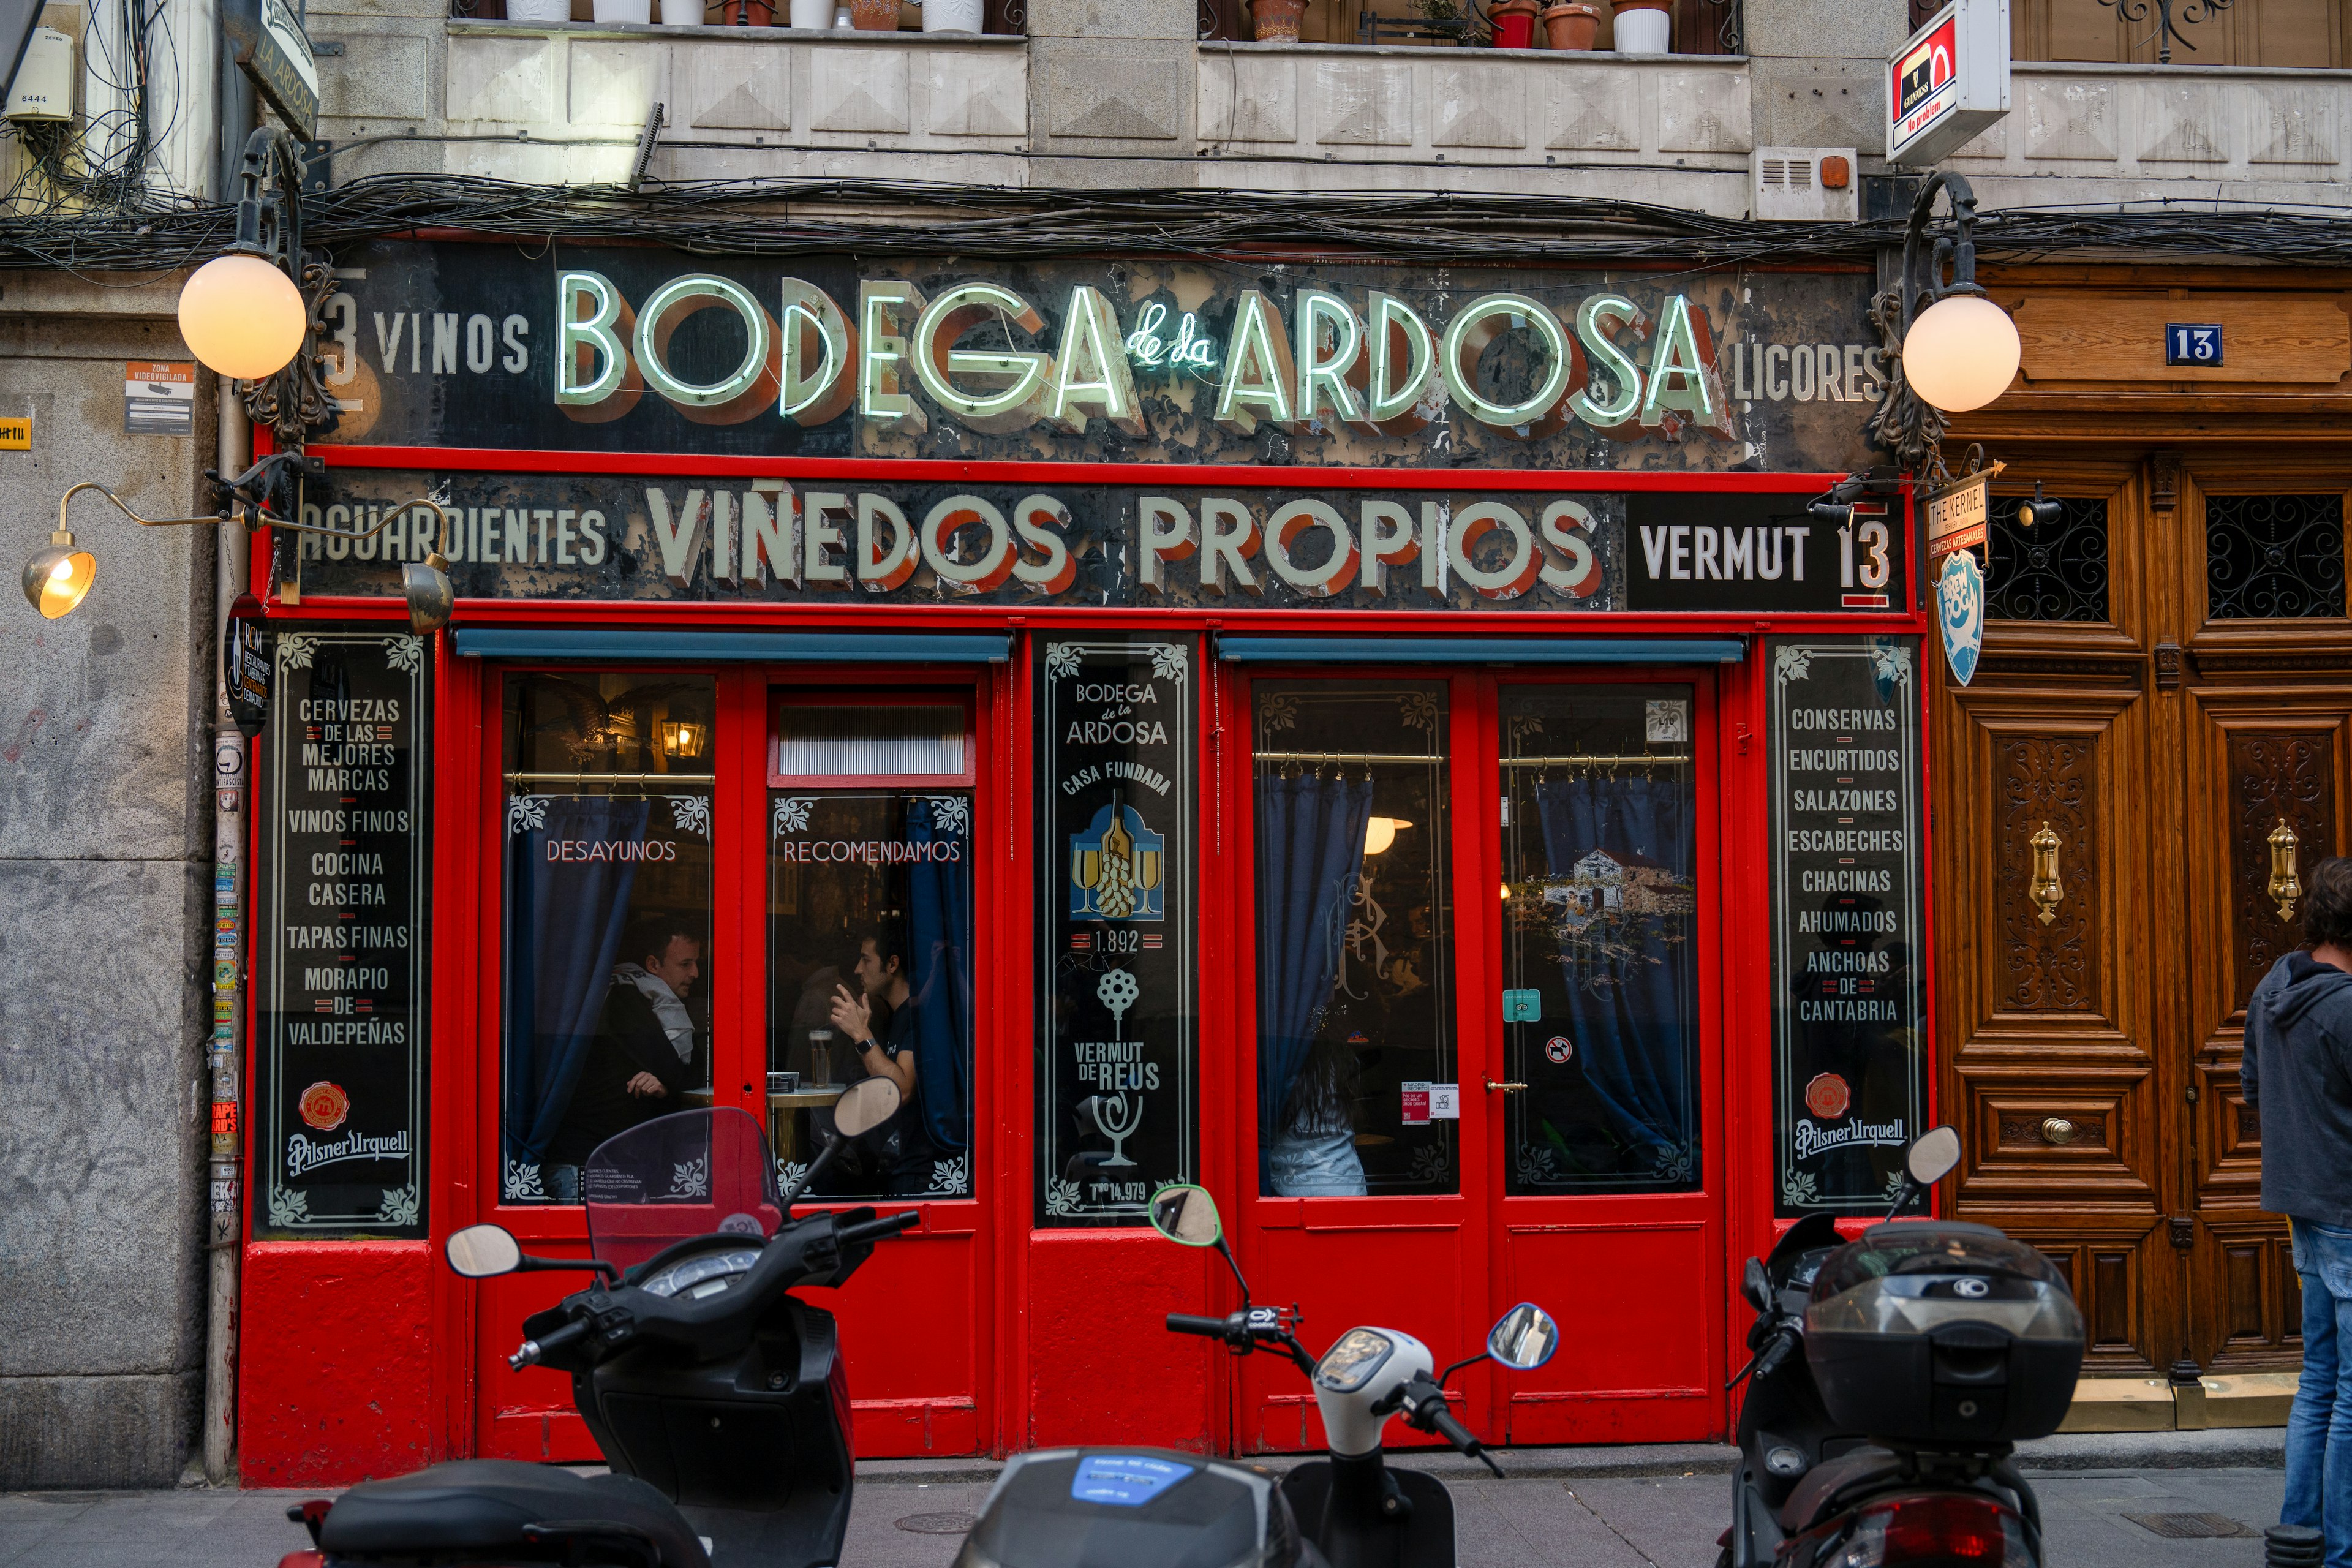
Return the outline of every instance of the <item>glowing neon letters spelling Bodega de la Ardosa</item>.
<path id="1" fill-rule="evenodd" d="M 960 282 L 927 299 L 913 282 L 870 277 L 844 310 L 786 277 L 771 299 L 774 315 L 743 284 L 689 273 L 630 310 L 609 277 L 564 270 L 555 280 L 555 404 L 602 423 L 652 390 L 706 425 L 774 409 L 814 428 L 856 409 L 875 435 L 924 435 L 936 411 L 990 435 L 1033 425 L 1084 435 L 1089 421 L 1103 421 L 1143 437 L 1134 371 L 1145 369 L 1214 388 L 1209 418 L 1232 435 L 1258 425 L 1406 435 L 1451 407 L 1529 442 L 1578 421 L 1628 442 L 1731 437 L 1712 324 L 1686 294 L 1668 294 L 1656 317 L 1606 292 L 1573 310 L 1529 294 L 1479 294 L 1439 327 L 1385 292 L 1359 310 L 1334 289 L 1301 287 L 1284 320 L 1265 292 L 1242 289 L 1223 346 L 1192 310 L 1176 315 L 1171 331 L 1160 301 L 1145 301 L 1122 334 L 1117 308 L 1089 284 L 1070 289 L 1058 324 L 997 282 Z M 715 381 L 687 381 L 670 367 L 670 341 L 699 310 L 729 313 L 743 327 L 741 360 Z M 974 331 L 990 346 L 967 346 Z M 1529 390 L 1508 402 L 1479 374 L 1505 334 L 1536 362 Z"/>

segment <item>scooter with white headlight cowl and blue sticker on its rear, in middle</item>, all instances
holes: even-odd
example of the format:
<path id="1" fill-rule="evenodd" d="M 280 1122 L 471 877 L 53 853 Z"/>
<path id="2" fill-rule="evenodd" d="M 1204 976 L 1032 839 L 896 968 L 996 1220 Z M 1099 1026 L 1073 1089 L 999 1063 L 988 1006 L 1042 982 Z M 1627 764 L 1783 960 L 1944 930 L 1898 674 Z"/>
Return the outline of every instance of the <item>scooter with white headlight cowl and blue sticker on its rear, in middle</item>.
<path id="1" fill-rule="evenodd" d="M 1279 1481 L 1232 1460 L 1164 1448 L 1058 1448 L 1004 1465 L 955 1568 L 1454 1568 L 1454 1497 L 1437 1476 L 1390 1467 L 1381 1432 L 1395 1415 L 1503 1469 L 1446 1410 L 1444 1385 L 1477 1361 L 1534 1371 L 1559 1349 L 1559 1326 L 1534 1302 L 1503 1314 L 1486 1349 L 1432 1375 L 1428 1345 L 1397 1328 L 1350 1328 L 1315 1359 L 1296 1307 L 1256 1307 L 1225 1244 L 1216 1199 L 1162 1187 L 1150 1220 L 1185 1246 L 1209 1246 L 1242 1286 L 1228 1316 L 1171 1312 L 1169 1333 L 1261 1345 L 1315 1387 L 1331 1453 Z"/>

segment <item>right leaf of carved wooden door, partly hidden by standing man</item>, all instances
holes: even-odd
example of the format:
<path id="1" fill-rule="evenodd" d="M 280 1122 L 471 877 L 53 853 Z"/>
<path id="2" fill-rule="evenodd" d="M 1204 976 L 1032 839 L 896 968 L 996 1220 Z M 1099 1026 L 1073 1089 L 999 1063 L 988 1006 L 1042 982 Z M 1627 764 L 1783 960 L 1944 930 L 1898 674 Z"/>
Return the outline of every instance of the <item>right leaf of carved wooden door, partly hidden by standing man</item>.
<path id="1" fill-rule="evenodd" d="M 2246 999 L 2303 940 L 2270 893 L 2272 837 L 2293 835 L 2281 849 L 2300 872 L 2343 853 L 2352 689 L 2232 682 L 2187 698 L 2187 1349 L 2206 1371 L 2246 1371 L 2296 1361 L 2303 1312 L 2286 1232 L 2260 1206 L 2260 1119 L 2239 1091 Z"/>

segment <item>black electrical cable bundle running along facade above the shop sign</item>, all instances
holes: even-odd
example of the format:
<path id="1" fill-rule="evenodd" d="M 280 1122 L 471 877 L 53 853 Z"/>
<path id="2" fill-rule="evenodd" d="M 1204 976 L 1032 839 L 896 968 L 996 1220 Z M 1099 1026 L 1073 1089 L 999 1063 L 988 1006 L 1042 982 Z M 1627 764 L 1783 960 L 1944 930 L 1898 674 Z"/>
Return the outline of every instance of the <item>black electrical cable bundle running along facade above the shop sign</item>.
<path id="1" fill-rule="evenodd" d="M 132 0 L 136 2 L 136 0 Z M 1980 259 L 2223 259 L 2352 266 L 2352 209 L 2199 200 L 2140 209 L 1980 214 Z M 303 197 L 310 244 L 501 235 L 635 242 L 731 256 L 1082 254 L 1359 256 L 1461 266 L 1870 261 L 1905 219 L 1757 223 L 1611 197 L 1482 193 L 1047 190 L 884 179 L 524 186 L 466 174 L 372 174 Z M 132 212 L 0 216 L 0 268 L 169 270 L 219 254 L 235 209 L 148 200 Z"/>

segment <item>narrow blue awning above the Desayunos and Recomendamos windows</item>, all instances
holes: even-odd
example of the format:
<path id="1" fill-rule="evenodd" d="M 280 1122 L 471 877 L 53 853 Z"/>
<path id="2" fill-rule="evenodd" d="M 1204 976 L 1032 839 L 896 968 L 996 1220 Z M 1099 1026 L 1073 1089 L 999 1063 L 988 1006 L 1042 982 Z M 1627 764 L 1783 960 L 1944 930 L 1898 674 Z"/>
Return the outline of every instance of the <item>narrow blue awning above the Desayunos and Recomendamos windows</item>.
<path id="1" fill-rule="evenodd" d="M 1000 665 L 1004 632 L 663 632 L 583 625 L 461 625 L 459 658 L 529 663 Z"/>

